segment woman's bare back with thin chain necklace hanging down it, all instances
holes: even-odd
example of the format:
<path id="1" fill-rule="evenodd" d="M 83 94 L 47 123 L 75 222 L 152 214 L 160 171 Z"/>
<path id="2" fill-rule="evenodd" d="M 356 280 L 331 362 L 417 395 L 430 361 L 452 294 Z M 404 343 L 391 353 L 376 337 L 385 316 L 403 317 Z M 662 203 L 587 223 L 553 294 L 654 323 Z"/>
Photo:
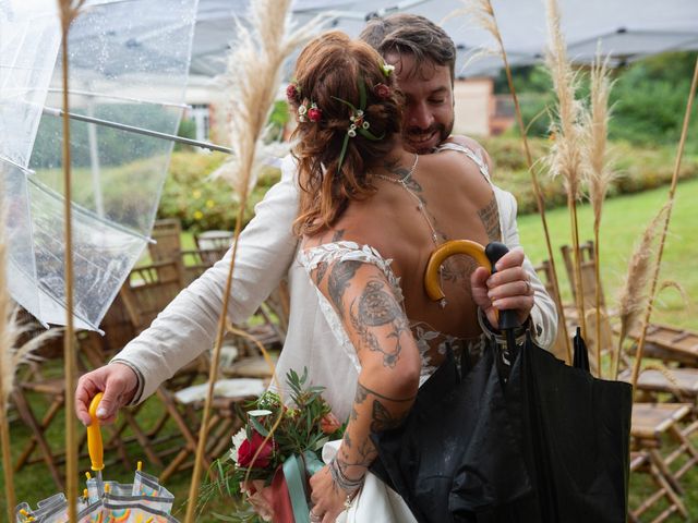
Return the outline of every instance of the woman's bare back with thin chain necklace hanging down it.
<path id="1" fill-rule="evenodd" d="M 458 142 L 473 155 L 480 150 L 472 141 Z M 444 308 L 424 292 L 424 271 L 436 245 L 447 240 L 472 240 L 483 245 L 501 240 L 496 199 L 482 172 L 486 167 L 481 169 L 478 158 L 471 159 L 462 151 L 444 150 L 420 156 L 411 177 L 401 184 L 399 180 L 413 165 L 413 155 L 398 149 L 389 157 L 398 160 L 372 169 L 377 175 L 376 193 L 351 202 L 335 227 L 306 239 L 305 247 L 338 240 L 371 245 L 384 259 L 393 259 L 390 267 L 400 278 L 410 324 L 457 338 L 476 338 L 480 327 L 470 294 L 474 262 L 455 256 L 444 264 Z"/>

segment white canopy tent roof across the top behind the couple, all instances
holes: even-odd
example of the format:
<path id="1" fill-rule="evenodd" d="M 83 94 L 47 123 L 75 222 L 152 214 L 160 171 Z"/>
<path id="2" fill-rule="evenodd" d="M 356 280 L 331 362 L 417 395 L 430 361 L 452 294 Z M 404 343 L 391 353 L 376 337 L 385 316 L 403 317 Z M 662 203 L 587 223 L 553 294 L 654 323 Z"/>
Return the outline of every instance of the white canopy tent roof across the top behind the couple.
<path id="1" fill-rule="evenodd" d="M 200 0 L 191 73 L 213 76 L 225 68 L 225 54 L 233 38 L 234 16 L 244 14 L 248 0 Z M 293 16 L 306 22 L 320 12 L 335 11 L 333 26 L 358 36 L 365 21 L 390 12 L 411 12 L 441 23 L 461 0 L 297 0 Z M 546 41 L 543 0 L 492 0 L 505 48 L 513 64 L 533 63 L 543 56 Z M 696 0 L 559 0 L 562 26 L 573 60 L 588 62 L 601 40 L 602 52 L 614 62 L 669 50 L 698 49 Z M 474 49 L 493 47 L 492 37 L 464 16 L 446 21 L 446 32 L 459 50 L 457 75 L 493 74 L 500 60 L 470 62 Z"/>

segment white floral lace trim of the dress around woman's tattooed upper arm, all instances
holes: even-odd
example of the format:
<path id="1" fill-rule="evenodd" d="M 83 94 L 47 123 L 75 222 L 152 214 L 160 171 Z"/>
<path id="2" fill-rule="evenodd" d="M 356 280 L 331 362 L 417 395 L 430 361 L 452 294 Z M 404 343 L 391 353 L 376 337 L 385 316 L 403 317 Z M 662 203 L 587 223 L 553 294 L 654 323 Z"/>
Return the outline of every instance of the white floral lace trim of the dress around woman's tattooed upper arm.
<path id="1" fill-rule="evenodd" d="M 315 270 L 320 264 L 330 265 L 340 262 L 361 262 L 364 264 L 375 265 L 385 275 L 396 300 L 405 312 L 405 297 L 402 295 L 402 289 L 400 288 L 400 279 L 395 276 L 390 268 L 390 263 L 393 260 L 384 259 L 383 256 L 381 256 L 381 254 L 370 245 L 359 245 L 356 242 L 349 241 L 325 243 L 316 247 L 299 251 L 298 259 L 301 265 L 305 267 L 309 275 Z M 329 328 L 335 335 L 335 338 L 337 338 L 341 349 L 354 365 L 357 372 L 360 372 L 361 364 L 359 363 L 357 350 L 353 346 L 353 343 L 351 343 L 351 340 L 349 340 L 339 316 L 337 316 L 335 308 L 317 287 L 315 287 L 315 291 L 320 301 L 320 309 L 323 312 L 325 319 L 327 319 Z M 474 340 L 456 338 L 454 336 L 435 331 L 423 321 L 410 321 L 410 329 L 414 336 L 417 346 L 422 357 L 420 386 L 426 381 L 434 370 L 436 370 L 436 366 L 432 363 L 430 357 L 430 351 L 433 346 L 436 346 L 436 352 L 440 355 L 446 353 L 448 345 L 450 345 L 456 353 L 467 350 L 468 353 L 473 354 L 479 353 L 482 350 L 480 338 Z"/>

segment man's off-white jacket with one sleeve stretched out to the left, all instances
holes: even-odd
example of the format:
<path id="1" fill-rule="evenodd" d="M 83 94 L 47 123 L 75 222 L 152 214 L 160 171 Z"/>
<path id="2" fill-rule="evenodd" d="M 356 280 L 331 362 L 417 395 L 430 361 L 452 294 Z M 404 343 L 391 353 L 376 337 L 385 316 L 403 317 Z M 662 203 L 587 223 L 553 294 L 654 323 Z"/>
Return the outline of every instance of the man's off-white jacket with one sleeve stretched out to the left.
<path id="1" fill-rule="evenodd" d="M 246 319 L 287 277 L 290 318 L 277 376 L 284 381 L 289 369 L 301 373 L 303 367 L 309 367 L 310 381 L 327 387 L 323 396 L 338 418 L 344 419 L 349 415 L 358 375 L 348 356 L 337 346 L 320 311 L 313 283 L 296 257 L 299 242 L 291 226 L 298 211 L 299 188 L 294 180 L 296 165 L 287 157 L 281 166 L 281 180 L 255 207 L 255 217 L 240 235 L 228 317 L 233 323 Z M 516 199 L 510 193 L 493 187 L 503 242 L 509 248 L 516 247 L 519 245 Z M 121 360 L 141 373 L 142 390 L 136 393 L 134 404 L 213 346 L 231 252 L 184 289 L 148 329 L 112 360 Z M 541 346 L 550 348 L 556 336 L 555 305 L 528 258 L 525 267 L 535 291 L 531 319 L 537 341 Z"/>

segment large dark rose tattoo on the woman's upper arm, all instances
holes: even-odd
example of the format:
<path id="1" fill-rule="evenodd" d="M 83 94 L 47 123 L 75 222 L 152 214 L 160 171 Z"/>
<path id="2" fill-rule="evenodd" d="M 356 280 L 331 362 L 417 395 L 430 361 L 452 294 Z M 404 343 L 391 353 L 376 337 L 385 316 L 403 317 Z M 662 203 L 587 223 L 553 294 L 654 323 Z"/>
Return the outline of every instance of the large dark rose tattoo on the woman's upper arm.
<path id="1" fill-rule="evenodd" d="M 385 283 L 380 280 L 369 281 L 361 295 L 351 302 L 349 314 L 351 325 L 362 343 L 369 350 L 383 354 L 383 365 L 395 367 L 402 350 L 400 337 L 402 332 L 409 331 L 409 325 L 395 296 L 385 290 Z M 372 332 L 372 327 L 383 326 L 390 326 L 393 330 L 381 342 Z M 385 345 L 390 338 L 395 339 L 395 346 L 388 349 Z"/>

